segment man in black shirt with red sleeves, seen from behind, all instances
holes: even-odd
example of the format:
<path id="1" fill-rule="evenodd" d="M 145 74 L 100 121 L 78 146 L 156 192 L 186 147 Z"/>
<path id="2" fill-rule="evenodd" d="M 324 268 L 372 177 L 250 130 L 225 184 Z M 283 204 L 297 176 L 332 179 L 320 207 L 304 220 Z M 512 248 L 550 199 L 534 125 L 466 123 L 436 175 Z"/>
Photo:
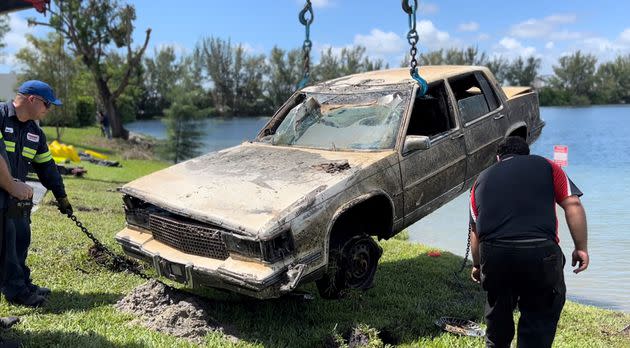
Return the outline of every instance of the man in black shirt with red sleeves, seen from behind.
<path id="1" fill-rule="evenodd" d="M 574 272 L 582 272 L 589 263 L 582 192 L 560 166 L 530 155 L 523 138 L 506 138 L 497 160 L 470 193 L 471 277 L 487 291 L 486 346 L 510 346 L 518 304 L 518 346 L 551 347 L 566 294 L 556 203 L 575 244 Z"/>

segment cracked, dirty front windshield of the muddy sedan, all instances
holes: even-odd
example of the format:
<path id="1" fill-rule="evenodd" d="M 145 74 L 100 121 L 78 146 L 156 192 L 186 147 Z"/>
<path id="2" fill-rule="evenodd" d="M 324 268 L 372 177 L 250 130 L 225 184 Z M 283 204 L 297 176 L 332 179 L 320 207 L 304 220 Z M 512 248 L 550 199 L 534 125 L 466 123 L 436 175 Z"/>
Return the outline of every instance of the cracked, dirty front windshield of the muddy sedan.
<path id="1" fill-rule="evenodd" d="M 355 94 L 307 93 L 275 133 L 263 138 L 273 145 L 317 149 L 391 149 L 410 92 Z"/>

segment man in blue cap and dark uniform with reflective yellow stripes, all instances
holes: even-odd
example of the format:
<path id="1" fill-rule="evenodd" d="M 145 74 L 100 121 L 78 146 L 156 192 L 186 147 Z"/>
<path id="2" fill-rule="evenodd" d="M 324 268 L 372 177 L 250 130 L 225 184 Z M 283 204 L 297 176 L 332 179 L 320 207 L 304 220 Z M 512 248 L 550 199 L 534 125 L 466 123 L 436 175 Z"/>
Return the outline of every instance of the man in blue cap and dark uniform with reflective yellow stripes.
<path id="1" fill-rule="evenodd" d="M 51 190 L 63 214 L 72 214 L 61 175 L 46 144 L 46 136 L 36 121 L 42 120 L 51 105 L 61 105 L 52 88 L 37 80 L 23 83 L 12 102 L 0 103 L 0 133 L 6 146 L 13 178 L 26 180 L 32 166 L 41 183 Z M 26 256 L 31 242 L 30 209 L 24 202 L 8 200 L 5 219 L 2 293 L 14 304 L 37 307 L 50 289 L 31 282 Z"/>

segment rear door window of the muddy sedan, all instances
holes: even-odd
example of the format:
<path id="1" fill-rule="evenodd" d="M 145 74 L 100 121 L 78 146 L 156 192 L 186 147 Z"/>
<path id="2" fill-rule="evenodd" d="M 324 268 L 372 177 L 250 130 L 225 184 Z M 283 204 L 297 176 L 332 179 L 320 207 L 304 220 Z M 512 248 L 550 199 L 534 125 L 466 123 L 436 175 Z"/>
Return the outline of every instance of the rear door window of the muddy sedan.
<path id="1" fill-rule="evenodd" d="M 449 84 L 464 123 L 473 121 L 499 107 L 497 96 L 481 73 L 451 78 Z"/>

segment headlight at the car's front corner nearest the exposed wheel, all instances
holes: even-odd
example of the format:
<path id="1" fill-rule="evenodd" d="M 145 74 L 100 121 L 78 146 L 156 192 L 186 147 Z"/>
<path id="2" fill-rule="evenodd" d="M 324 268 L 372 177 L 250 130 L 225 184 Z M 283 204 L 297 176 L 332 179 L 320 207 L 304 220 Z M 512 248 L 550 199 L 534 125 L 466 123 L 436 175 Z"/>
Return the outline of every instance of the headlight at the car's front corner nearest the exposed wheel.
<path id="1" fill-rule="evenodd" d="M 291 254 L 294 250 L 293 237 L 290 230 L 286 230 L 267 241 L 247 239 L 232 233 L 223 233 L 222 238 L 228 252 L 265 262 L 278 261 Z"/>

